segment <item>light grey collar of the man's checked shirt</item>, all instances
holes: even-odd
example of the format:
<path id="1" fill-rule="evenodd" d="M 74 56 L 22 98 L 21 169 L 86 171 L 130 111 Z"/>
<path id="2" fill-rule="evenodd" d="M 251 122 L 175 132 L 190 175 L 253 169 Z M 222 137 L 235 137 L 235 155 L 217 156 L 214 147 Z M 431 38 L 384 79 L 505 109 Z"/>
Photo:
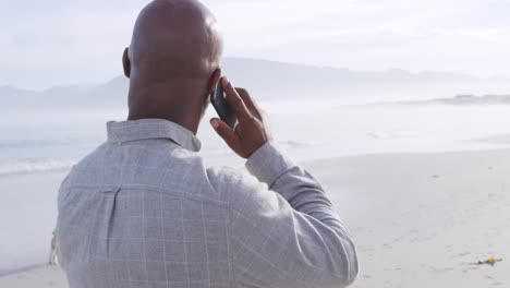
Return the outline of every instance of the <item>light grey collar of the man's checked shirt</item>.
<path id="1" fill-rule="evenodd" d="M 162 119 L 142 119 L 136 121 L 108 122 L 108 142 L 122 144 L 122 142 L 169 139 L 181 147 L 199 152 L 201 141 L 190 130 Z"/>

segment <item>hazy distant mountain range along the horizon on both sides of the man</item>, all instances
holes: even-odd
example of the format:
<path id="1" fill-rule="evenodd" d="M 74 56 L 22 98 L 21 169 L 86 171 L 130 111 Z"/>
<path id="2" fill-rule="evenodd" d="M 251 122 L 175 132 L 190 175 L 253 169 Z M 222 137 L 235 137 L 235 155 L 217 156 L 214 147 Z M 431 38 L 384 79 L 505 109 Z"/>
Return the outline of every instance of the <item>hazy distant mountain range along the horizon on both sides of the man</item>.
<path id="1" fill-rule="evenodd" d="M 227 58 L 223 74 L 262 100 L 335 97 L 347 103 L 415 100 L 457 94 L 505 94 L 507 79 L 403 70 L 360 72 L 275 61 Z M 59 86 L 42 92 L 0 87 L 0 110 L 123 108 L 127 80 L 116 77 L 100 85 Z"/>

